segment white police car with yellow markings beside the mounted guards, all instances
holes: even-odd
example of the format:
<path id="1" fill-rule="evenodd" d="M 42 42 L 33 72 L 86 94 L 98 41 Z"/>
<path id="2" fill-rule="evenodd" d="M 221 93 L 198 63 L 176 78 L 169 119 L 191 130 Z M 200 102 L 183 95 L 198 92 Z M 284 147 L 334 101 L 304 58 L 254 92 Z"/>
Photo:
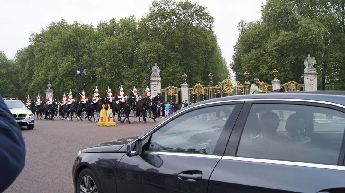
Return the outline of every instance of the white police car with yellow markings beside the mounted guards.
<path id="1" fill-rule="evenodd" d="M 18 98 L 3 98 L 5 104 L 13 114 L 14 119 L 19 126 L 26 126 L 28 129 L 33 129 L 35 117 L 31 110 Z"/>

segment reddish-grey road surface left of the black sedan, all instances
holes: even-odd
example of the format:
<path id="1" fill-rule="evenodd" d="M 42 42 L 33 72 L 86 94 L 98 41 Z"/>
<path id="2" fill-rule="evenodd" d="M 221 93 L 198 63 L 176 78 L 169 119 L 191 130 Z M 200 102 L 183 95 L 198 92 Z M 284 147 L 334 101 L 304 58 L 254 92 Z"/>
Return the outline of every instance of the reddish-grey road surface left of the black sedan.
<path id="1" fill-rule="evenodd" d="M 21 127 L 26 145 L 25 166 L 4 192 L 74 192 L 72 165 L 78 151 L 113 139 L 140 135 L 164 119 L 157 118 L 155 123 L 147 118 L 147 124 L 130 120 L 132 124 L 116 121 L 116 126 L 105 127 L 87 119 L 72 122 L 36 118 L 34 129 Z"/>

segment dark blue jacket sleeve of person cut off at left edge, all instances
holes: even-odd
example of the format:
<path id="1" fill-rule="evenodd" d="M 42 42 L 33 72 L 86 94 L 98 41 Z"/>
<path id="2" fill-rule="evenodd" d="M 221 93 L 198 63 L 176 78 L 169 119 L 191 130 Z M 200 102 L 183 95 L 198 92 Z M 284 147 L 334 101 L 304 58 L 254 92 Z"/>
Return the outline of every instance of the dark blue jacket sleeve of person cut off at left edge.
<path id="1" fill-rule="evenodd" d="M 0 192 L 16 180 L 25 163 L 24 139 L 0 94 Z"/>

